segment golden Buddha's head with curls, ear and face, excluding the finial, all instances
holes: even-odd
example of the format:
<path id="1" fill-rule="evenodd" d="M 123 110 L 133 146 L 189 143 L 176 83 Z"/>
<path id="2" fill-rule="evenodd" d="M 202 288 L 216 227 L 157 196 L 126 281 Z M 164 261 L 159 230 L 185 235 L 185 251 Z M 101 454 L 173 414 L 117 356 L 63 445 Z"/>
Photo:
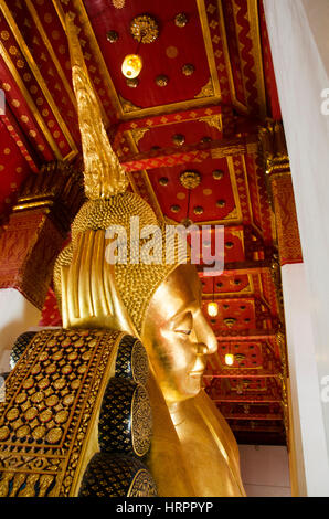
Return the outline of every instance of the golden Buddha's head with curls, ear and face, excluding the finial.
<path id="1" fill-rule="evenodd" d="M 110 225 L 126 229 L 129 251 L 131 216 L 138 216 L 141 226 L 159 225 L 163 241 L 162 263 L 118 262 L 109 269 L 104 254 L 105 231 Z M 201 283 L 197 268 L 188 263 L 180 242 L 176 241 L 174 263 L 167 264 L 163 226 L 157 221 L 149 204 L 129 192 L 109 200 L 86 202 L 72 225 L 72 244 L 57 258 L 55 288 L 60 299 L 61 293 L 63 299 L 63 289 L 71 292 L 70 299 L 81 303 L 82 315 L 79 318 L 77 314 L 75 320 L 71 317 L 67 319 L 67 305 L 63 305 L 64 322 L 75 327 L 109 326 L 127 330 L 120 321 L 124 309 L 146 347 L 167 402 L 179 402 L 198 394 L 206 354 L 216 351 L 216 340 L 201 309 Z M 63 276 L 63 268 L 68 273 L 66 276 Z M 68 279 L 70 272 L 75 277 L 74 282 Z M 82 279 L 87 280 L 82 283 Z M 108 321 L 100 306 L 113 307 L 106 300 L 106 294 L 114 287 L 120 305 L 116 307 L 115 319 Z M 91 310 L 85 310 L 86 301 L 96 301 L 99 294 L 102 300 L 98 309 L 94 304 Z"/>

